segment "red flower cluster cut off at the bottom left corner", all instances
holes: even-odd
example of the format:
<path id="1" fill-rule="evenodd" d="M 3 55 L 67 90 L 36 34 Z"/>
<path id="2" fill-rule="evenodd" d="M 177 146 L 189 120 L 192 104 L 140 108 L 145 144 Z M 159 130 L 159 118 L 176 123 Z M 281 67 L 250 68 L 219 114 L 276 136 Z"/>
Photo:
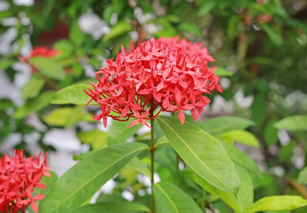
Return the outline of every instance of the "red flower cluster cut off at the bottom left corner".
<path id="1" fill-rule="evenodd" d="M 14 156 L 4 154 L 0 158 L 0 212 L 16 213 L 25 212 L 31 204 L 37 213 L 38 207 L 34 201 L 41 200 L 45 195 L 32 197 L 34 187 L 45 188 L 39 183 L 43 175 L 51 177 L 47 172 L 47 154 L 42 162 L 39 161 L 40 154 L 24 159 L 24 151 L 14 151 Z"/>

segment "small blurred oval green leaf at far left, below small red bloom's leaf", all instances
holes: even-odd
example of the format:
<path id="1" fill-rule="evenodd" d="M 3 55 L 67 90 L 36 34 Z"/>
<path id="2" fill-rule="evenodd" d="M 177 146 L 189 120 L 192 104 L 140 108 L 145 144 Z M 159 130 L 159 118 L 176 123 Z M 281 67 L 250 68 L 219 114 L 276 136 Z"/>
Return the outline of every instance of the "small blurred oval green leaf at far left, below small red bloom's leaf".
<path id="1" fill-rule="evenodd" d="M 21 89 L 21 95 L 23 95 L 25 100 L 34 98 L 40 92 L 43 84 L 45 84 L 45 80 L 42 77 L 33 75 L 23 89 Z"/>

